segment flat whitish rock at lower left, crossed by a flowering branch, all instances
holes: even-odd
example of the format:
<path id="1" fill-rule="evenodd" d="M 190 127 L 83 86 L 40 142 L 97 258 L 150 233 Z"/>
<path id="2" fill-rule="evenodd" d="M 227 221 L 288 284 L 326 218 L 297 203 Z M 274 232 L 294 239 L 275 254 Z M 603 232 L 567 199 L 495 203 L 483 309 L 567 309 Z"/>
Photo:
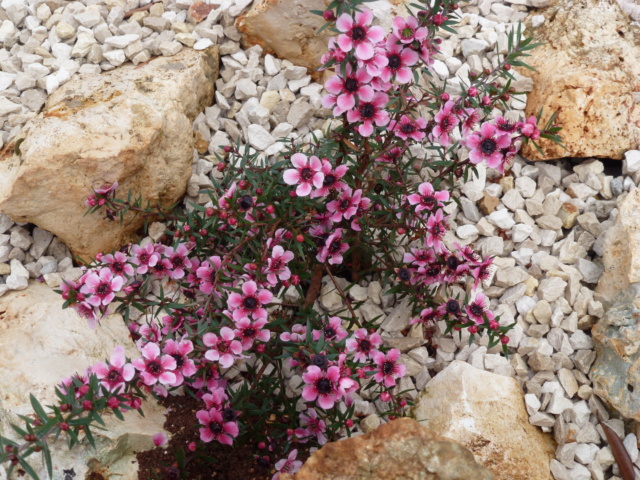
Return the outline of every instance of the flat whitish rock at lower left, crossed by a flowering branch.
<path id="1" fill-rule="evenodd" d="M 115 345 L 123 345 L 128 357 L 139 356 L 121 316 L 110 315 L 90 330 L 84 318 L 63 310 L 62 303 L 60 295 L 40 283 L 0 298 L 0 435 L 11 437 L 9 423 L 21 425 L 18 415 L 33 412 L 30 393 L 43 405 L 55 403 L 54 388 L 62 378 L 105 361 Z M 93 478 L 95 471 L 104 478 L 137 480 L 134 452 L 153 448 L 152 437 L 164 431 L 165 421 L 163 408 L 153 399 L 142 408 L 145 417 L 127 412 L 124 422 L 104 415 L 106 429 L 93 430 L 96 450 L 86 441 L 71 451 L 64 440 L 50 444 L 53 478 L 62 479 L 62 470 L 73 468 L 76 478 Z M 40 478 L 48 478 L 40 455 L 29 460 Z"/>

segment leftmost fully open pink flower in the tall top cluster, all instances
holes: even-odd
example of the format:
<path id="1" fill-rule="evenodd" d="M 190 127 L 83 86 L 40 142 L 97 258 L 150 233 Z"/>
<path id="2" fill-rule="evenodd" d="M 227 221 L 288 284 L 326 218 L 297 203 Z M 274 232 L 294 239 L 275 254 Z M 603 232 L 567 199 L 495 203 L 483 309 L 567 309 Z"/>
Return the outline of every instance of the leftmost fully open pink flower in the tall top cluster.
<path id="1" fill-rule="evenodd" d="M 325 96 L 322 99 L 322 106 L 332 108 L 333 114 L 337 117 L 347 110 L 351 110 L 356 106 L 356 99 L 361 102 L 370 102 L 373 100 L 374 90 L 370 85 L 371 75 L 364 68 L 359 68 L 355 72 L 347 66 L 345 71 L 346 77 L 334 75 L 324 84 L 332 96 Z"/>

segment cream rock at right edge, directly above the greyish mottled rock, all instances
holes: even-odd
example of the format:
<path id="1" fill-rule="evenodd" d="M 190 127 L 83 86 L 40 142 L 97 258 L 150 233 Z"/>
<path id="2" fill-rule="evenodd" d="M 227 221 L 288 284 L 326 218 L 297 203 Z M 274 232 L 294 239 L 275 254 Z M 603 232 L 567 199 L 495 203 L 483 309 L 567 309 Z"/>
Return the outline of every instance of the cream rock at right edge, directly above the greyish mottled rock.
<path id="1" fill-rule="evenodd" d="M 629 285 L 640 282 L 640 189 L 618 201 L 618 216 L 602 247 L 604 272 L 594 298 L 610 305 Z"/>

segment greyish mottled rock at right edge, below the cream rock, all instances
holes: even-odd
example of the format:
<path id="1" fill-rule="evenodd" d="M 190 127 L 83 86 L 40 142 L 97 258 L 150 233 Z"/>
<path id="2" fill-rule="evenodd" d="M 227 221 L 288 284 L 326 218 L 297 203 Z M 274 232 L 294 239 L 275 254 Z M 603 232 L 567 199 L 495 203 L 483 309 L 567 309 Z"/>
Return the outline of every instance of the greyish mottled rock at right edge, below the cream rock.
<path id="1" fill-rule="evenodd" d="M 640 421 L 640 289 L 622 292 L 591 330 L 593 391 L 624 417 Z"/>

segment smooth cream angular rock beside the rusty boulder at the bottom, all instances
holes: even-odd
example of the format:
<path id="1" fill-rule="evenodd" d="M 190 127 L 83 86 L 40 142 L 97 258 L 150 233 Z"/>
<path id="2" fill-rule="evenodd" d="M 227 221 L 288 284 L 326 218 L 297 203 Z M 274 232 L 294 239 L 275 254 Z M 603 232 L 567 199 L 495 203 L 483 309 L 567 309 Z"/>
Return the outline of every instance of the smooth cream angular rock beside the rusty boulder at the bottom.
<path id="1" fill-rule="evenodd" d="M 552 478 L 555 442 L 529 423 L 514 378 L 456 360 L 431 379 L 413 413 L 425 427 L 471 450 L 496 480 Z"/>

